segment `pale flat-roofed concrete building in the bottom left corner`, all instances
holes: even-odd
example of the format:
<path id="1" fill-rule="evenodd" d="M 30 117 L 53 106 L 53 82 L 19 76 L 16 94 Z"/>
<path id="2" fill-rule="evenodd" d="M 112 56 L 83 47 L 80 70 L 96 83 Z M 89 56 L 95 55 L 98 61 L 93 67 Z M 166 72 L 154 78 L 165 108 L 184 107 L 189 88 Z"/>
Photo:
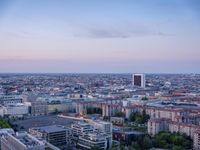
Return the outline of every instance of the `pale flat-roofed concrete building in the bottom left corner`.
<path id="1" fill-rule="evenodd" d="M 1 138 L 1 150 L 44 150 L 45 144 L 27 133 L 7 134 Z"/>

